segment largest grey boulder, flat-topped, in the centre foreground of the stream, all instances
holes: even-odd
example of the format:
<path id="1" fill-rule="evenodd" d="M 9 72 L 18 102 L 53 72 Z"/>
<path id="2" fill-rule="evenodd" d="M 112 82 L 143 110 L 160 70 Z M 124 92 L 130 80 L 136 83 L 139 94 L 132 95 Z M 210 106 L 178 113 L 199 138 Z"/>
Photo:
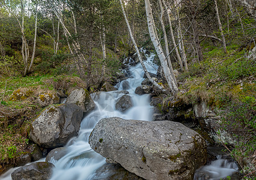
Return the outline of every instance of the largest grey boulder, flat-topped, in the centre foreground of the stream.
<path id="1" fill-rule="evenodd" d="M 206 163 L 206 142 L 171 121 L 101 119 L 89 137 L 94 151 L 145 179 L 192 179 Z"/>

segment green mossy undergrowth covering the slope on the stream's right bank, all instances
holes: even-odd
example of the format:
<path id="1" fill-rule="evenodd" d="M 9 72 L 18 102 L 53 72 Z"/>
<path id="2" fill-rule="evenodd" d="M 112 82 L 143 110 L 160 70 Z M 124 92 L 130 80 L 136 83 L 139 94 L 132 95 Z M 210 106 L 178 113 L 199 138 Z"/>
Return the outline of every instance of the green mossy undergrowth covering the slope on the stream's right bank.
<path id="1" fill-rule="evenodd" d="M 178 98 L 184 103 L 205 101 L 221 112 L 222 130 L 229 128 L 237 140 L 231 155 L 245 175 L 254 172 L 256 165 L 256 62 L 247 55 L 237 46 L 228 46 L 228 54 L 212 48 L 204 53 L 203 62 L 189 64 L 189 71 L 178 77 L 183 81 Z"/>

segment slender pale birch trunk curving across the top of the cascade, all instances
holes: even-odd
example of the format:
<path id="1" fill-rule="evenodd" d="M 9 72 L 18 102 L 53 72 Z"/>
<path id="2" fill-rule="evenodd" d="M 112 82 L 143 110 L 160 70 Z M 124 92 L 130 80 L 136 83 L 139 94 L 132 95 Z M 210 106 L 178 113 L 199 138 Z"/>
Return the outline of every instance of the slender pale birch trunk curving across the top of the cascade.
<path id="1" fill-rule="evenodd" d="M 142 61 L 141 53 L 139 52 L 138 46 L 136 45 L 135 40 L 134 40 L 134 38 L 133 38 L 132 29 L 130 29 L 129 21 L 128 21 L 127 17 L 126 17 L 126 12 L 124 11 L 124 6 L 123 6 L 122 0 L 120 0 L 120 4 L 121 4 L 122 12 L 123 12 L 123 14 L 124 14 L 124 19 L 126 20 L 127 28 L 128 28 L 128 30 L 129 30 L 130 38 L 132 39 L 133 46 L 135 47 L 136 52 L 137 52 L 137 54 L 138 54 L 139 62 L 141 63 L 141 66 L 142 66 L 143 70 L 145 71 L 145 74 L 146 74 L 148 80 L 150 80 L 150 82 L 153 83 L 153 85 L 156 86 L 157 88 L 161 89 L 162 91 L 165 91 L 165 89 L 163 89 L 162 86 L 160 86 L 159 84 L 157 84 L 157 83 L 150 77 L 150 74 L 148 73 L 147 68 L 145 67 L 144 62 Z M 167 65 L 167 63 L 166 63 L 166 65 Z"/>

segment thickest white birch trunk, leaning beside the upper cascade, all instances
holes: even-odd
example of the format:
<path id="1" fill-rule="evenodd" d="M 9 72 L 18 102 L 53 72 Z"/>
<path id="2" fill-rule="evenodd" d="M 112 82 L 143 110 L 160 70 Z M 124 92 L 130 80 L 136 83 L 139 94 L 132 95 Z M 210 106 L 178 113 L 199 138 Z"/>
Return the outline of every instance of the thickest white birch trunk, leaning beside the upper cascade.
<path id="1" fill-rule="evenodd" d="M 178 87 L 175 85 L 175 81 L 174 81 L 175 77 L 171 76 L 171 71 L 168 68 L 168 64 L 166 62 L 166 57 L 163 53 L 162 47 L 161 47 L 160 43 L 158 43 L 158 41 L 157 41 L 157 37 L 154 32 L 154 19 L 153 19 L 153 14 L 152 14 L 149 0 L 145 0 L 145 8 L 146 8 L 146 14 L 147 14 L 148 31 L 150 33 L 151 41 L 154 45 L 154 49 L 157 52 L 157 56 L 160 59 L 161 65 L 163 67 L 163 72 L 165 73 L 169 88 L 171 88 L 172 93 L 175 95 L 178 92 Z"/>

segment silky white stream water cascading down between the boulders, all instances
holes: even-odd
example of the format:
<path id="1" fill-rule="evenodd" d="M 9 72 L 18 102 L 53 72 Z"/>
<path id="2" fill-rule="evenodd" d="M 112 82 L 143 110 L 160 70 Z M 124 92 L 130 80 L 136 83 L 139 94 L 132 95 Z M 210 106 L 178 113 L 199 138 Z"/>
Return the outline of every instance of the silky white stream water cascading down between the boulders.
<path id="1" fill-rule="evenodd" d="M 145 65 L 150 73 L 156 74 L 157 65 L 153 63 L 153 58 L 154 55 L 149 55 L 147 57 L 147 61 L 145 61 Z M 118 91 L 96 92 L 91 95 L 97 105 L 97 108 L 82 120 L 78 137 L 73 138 L 66 145 L 66 155 L 64 155 L 64 157 L 60 158 L 58 161 L 56 161 L 54 157 L 51 158 L 50 162 L 56 167 L 53 170 L 51 180 L 95 179 L 95 172 L 97 169 L 99 169 L 99 167 L 102 167 L 105 164 L 105 158 L 90 148 L 88 139 L 94 126 L 100 121 L 100 119 L 118 116 L 123 119 L 151 121 L 153 107 L 149 105 L 149 95 L 135 94 L 136 87 L 141 85 L 142 80 L 144 80 L 144 71 L 142 70 L 141 65 L 136 64 L 133 67 L 131 66 L 129 67 L 129 70 L 124 73 L 129 74 L 129 78 L 126 79 L 126 81 L 122 81 L 117 84 Z M 132 97 L 133 107 L 125 112 L 120 112 L 115 110 L 115 103 L 117 99 L 124 94 L 128 94 L 130 97 Z M 220 163 L 223 164 L 223 162 L 218 161 L 210 166 L 204 166 L 205 168 L 203 170 L 201 169 L 201 172 L 204 171 L 208 174 L 210 173 L 211 176 L 213 176 L 213 179 L 217 177 L 215 176 L 216 173 L 221 173 L 223 171 L 229 171 L 230 173 L 233 172 L 234 167 L 228 167 L 229 165 L 227 163 L 225 164 L 225 169 L 223 170 L 221 168 L 224 166 L 219 165 Z M 106 176 L 100 175 L 100 179 L 105 179 Z M 221 176 L 226 176 L 226 174 L 222 175 L 221 173 Z M 2 179 L 10 179 L 10 172 L 8 175 L 5 173 L 5 175 L 2 176 Z"/>

